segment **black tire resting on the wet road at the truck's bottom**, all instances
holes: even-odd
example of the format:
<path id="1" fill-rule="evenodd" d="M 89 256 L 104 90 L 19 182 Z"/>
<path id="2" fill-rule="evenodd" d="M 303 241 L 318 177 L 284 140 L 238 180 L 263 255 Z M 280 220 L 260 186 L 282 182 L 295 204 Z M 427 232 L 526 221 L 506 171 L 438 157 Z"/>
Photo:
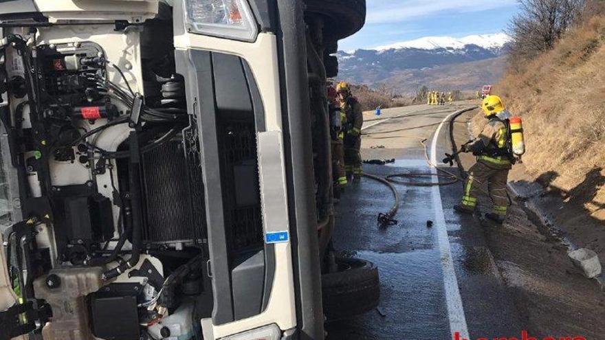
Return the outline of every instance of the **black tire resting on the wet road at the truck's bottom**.
<path id="1" fill-rule="evenodd" d="M 324 314 L 329 320 L 360 315 L 378 306 L 380 280 L 372 262 L 337 258 L 339 271 L 322 275 Z"/>

